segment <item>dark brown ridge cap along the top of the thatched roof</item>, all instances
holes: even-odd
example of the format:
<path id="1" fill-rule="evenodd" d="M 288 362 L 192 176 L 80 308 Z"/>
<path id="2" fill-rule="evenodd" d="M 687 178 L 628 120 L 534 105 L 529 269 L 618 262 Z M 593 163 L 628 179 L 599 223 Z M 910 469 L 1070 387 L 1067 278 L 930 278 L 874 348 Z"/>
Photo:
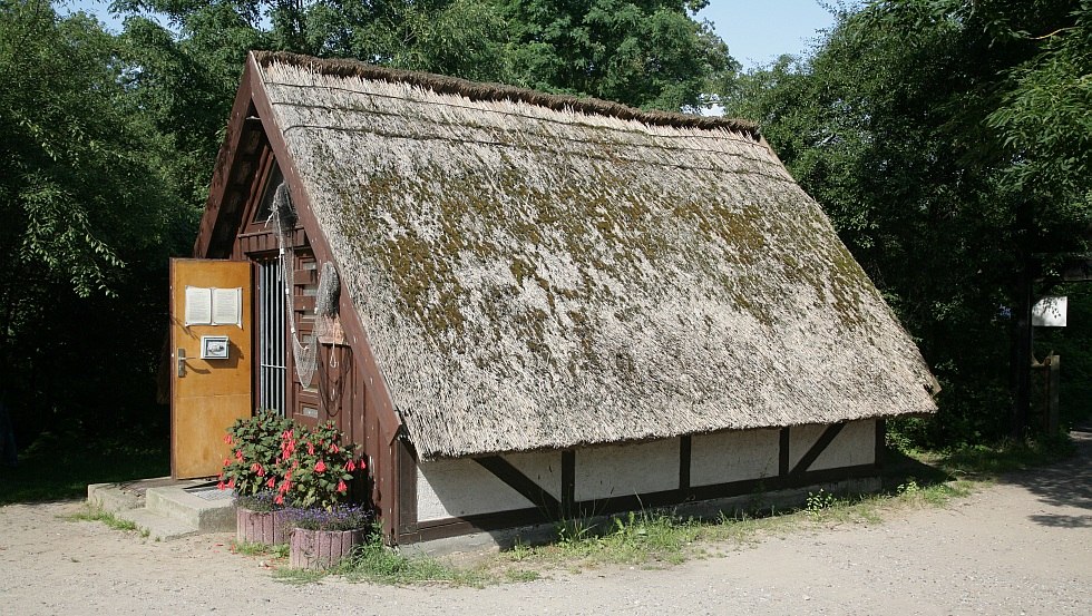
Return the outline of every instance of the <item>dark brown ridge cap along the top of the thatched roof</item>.
<path id="1" fill-rule="evenodd" d="M 742 119 L 693 116 L 673 111 L 649 111 L 597 98 L 546 94 L 504 84 L 485 84 L 431 72 L 384 68 L 345 58 L 315 58 L 289 51 L 252 51 L 251 53 L 253 53 L 254 59 L 262 67 L 281 62 L 308 67 L 323 75 L 410 84 L 430 89 L 437 94 L 455 94 L 475 101 L 514 100 L 557 111 L 573 110 L 587 115 L 637 120 L 654 126 L 700 128 L 706 130 L 721 128 L 740 133 L 755 141 L 761 139 L 758 125 Z"/>

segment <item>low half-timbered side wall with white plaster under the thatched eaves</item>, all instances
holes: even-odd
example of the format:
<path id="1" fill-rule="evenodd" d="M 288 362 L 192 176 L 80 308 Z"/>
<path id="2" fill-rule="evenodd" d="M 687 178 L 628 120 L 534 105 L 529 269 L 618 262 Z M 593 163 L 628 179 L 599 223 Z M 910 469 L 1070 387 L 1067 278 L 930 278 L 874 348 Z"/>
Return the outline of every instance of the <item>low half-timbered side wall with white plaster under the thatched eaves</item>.
<path id="1" fill-rule="evenodd" d="M 864 420 L 421 462 L 399 541 L 871 477 L 883 438 Z"/>

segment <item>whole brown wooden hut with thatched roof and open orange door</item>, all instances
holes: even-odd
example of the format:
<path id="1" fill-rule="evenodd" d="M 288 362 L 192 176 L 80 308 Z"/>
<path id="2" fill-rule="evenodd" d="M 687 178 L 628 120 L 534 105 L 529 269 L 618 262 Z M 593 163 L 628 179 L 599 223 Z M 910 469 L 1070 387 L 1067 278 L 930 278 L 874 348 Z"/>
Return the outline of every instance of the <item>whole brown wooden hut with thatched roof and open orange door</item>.
<path id="1" fill-rule="evenodd" d="M 936 410 L 743 121 L 255 52 L 194 257 L 175 473 L 255 408 L 334 419 L 392 544 L 875 477 L 884 419 Z M 203 290 L 226 303 L 183 319 Z"/>

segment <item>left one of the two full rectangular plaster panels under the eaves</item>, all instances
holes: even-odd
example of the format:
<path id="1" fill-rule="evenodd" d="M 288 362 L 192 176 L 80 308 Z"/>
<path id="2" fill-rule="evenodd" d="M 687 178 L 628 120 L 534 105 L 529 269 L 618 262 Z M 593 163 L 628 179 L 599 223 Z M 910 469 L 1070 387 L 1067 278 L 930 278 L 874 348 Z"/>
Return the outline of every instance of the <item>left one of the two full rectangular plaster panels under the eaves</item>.
<path id="1" fill-rule="evenodd" d="M 576 451 L 576 500 L 679 487 L 679 439 Z"/>

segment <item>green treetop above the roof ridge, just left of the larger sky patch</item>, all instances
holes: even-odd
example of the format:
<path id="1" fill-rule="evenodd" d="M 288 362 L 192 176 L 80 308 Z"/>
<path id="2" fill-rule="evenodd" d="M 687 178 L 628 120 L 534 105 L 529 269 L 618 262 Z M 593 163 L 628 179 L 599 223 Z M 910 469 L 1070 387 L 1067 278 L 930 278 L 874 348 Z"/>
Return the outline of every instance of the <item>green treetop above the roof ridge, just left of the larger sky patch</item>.
<path id="1" fill-rule="evenodd" d="M 498 1 L 511 27 L 514 82 L 677 111 L 718 94 L 739 65 L 708 22 L 706 2 Z"/>

